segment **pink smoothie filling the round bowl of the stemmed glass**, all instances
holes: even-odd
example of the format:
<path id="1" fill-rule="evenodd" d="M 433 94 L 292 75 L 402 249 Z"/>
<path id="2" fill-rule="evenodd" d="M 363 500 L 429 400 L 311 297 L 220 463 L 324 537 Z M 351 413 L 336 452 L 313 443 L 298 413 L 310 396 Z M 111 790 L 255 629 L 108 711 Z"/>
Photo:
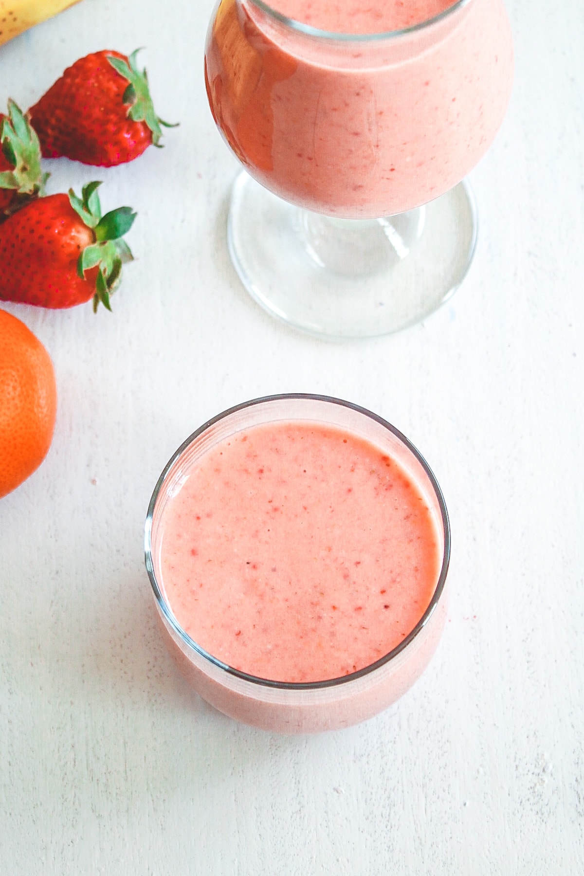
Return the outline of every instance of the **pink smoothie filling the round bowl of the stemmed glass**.
<path id="1" fill-rule="evenodd" d="M 290 18 L 354 34 L 423 25 L 451 5 L 272 0 Z M 411 209 L 459 182 L 503 120 L 512 68 L 502 0 L 352 41 L 221 0 L 205 59 L 215 122 L 249 172 L 287 201 L 348 218 Z"/>

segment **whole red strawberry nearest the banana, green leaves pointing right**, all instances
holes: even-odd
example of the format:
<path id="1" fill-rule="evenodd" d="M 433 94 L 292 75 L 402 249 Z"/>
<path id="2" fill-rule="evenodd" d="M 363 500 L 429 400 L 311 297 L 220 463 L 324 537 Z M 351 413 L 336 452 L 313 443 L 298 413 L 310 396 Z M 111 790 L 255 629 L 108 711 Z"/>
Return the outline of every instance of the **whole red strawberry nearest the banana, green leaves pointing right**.
<path id="1" fill-rule="evenodd" d="M 72 67 L 29 110 L 45 158 L 109 167 L 136 159 L 159 145 L 163 122 L 154 112 L 139 49 L 127 58 L 96 52 Z"/>

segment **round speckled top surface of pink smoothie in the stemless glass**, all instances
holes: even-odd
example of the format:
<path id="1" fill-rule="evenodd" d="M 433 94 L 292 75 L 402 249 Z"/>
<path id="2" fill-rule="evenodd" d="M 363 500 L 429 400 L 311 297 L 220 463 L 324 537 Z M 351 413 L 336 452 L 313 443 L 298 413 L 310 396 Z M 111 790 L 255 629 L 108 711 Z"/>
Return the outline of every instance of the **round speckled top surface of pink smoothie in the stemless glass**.
<path id="1" fill-rule="evenodd" d="M 340 427 L 223 439 L 165 505 L 165 597 L 229 666 L 282 682 L 354 673 L 398 646 L 440 576 L 439 523 L 397 459 Z"/>

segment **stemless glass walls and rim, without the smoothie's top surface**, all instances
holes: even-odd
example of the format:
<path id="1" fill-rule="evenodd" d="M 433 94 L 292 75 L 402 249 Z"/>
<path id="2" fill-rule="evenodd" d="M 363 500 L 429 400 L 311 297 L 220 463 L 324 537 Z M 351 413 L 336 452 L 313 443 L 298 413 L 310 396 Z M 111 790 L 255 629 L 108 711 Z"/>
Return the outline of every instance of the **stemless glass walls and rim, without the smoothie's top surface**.
<path id="1" fill-rule="evenodd" d="M 250 427 L 282 420 L 340 427 L 375 444 L 403 466 L 437 523 L 440 571 L 433 597 L 418 624 L 375 663 L 320 682 L 271 681 L 228 666 L 179 624 L 165 590 L 161 556 L 169 502 L 201 457 L 217 444 Z M 229 545 L 229 539 L 225 544 Z M 373 717 L 395 703 L 419 679 L 432 659 L 446 621 L 450 524 L 440 486 L 424 457 L 404 434 L 376 413 L 342 399 L 293 392 L 252 399 L 197 429 L 173 454 L 158 478 L 144 526 L 144 555 L 159 625 L 179 670 L 215 709 L 264 730 L 316 733 L 340 730 Z M 350 653 L 350 641 L 347 648 Z"/>

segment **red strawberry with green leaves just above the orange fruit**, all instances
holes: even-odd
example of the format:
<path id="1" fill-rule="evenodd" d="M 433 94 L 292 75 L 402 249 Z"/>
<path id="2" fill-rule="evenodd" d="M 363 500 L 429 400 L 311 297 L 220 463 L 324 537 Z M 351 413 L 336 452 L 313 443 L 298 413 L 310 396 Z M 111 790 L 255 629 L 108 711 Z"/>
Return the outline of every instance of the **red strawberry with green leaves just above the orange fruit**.
<path id="1" fill-rule="evenodd" d="M 120 207 L 102 216 L 100 182 L 82 199 L 51 194 L 31 201 L 0 225 L 0 299 L 39 307 L 73 307 L 90 298 L 111 310 L 124 262 L 132 259 L 122 239 L 136 214 Z"/>

